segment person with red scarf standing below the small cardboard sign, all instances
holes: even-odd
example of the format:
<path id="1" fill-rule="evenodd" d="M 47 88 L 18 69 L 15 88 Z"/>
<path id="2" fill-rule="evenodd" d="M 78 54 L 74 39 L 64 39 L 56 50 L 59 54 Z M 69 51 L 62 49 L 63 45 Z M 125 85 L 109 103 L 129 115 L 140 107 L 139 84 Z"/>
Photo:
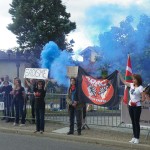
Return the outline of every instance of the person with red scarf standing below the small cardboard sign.
<path id="1" fill-rule="evenodd" d="M 68 111 L 69 111 L 69 120 L 70 120 L 70 129 L 67 135 L 74 134 L 74 120 L 76 116 L 77 121 L 77 132 L 78 135 L 81 135 L 81 126 L 82 126 L 82 106 L 79 103 L 77 98 L 76 90 L 76 78 L 70 79 L 70 87 L 68 90 Z"/>

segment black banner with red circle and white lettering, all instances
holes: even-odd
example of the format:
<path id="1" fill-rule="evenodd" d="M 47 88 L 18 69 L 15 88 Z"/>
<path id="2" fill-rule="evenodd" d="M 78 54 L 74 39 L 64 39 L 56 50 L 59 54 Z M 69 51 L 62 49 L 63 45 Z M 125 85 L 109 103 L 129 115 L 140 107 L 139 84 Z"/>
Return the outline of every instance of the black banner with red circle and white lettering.
<path id="1" fill-rule="evenodd" d="M 77 81 L 77 95 L 81 102 L 109 107 L 119 103 L 117 71 L 105 79 L 97 79 L 79 67 Z"/>

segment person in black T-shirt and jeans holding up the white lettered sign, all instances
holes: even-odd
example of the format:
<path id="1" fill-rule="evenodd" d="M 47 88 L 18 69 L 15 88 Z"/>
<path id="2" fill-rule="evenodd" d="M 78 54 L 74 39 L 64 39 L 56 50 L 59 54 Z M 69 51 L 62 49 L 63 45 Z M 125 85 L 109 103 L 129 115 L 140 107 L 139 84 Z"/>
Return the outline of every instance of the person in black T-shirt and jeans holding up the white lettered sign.
<path id="1" fill-rule="evenodd" d="M 36 87 L 34 88 L 34 96 L 35 96 L 35 114 L 36 114 L 36 130 L 34 133 L 40 132 L 41 134 L 44 132 L 44 115 L 45 115 L 45 95 L 47 89 L 48 80 L 45 82 L 44 80 L 38 80 L 36 83 Z"/>

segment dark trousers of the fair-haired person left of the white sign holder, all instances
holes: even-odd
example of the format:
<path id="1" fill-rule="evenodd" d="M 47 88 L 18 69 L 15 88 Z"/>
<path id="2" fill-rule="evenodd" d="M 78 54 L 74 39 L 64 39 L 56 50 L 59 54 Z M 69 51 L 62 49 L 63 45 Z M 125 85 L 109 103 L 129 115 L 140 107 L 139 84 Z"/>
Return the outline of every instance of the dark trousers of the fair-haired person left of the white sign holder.
<path id="1" fill-rule="evenodd" d="M 21 116 L 21 124 L 25 124 L 24 100 L 15 100 L 14 103 L 16 111 L 15 123 L 19 123 L 19 117 Z"/>

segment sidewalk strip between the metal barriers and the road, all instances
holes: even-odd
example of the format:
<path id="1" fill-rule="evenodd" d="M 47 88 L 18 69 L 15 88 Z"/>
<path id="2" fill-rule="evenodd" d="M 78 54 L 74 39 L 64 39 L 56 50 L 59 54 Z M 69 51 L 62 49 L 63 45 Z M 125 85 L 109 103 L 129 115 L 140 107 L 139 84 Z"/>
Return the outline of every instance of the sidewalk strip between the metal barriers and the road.
<path id="1" fill-rule="evenodd" d="M 58 123 L 58 122 L 46 122 L 45 132 L 43 134 L 33 133 L 35 130 L 35 124 L 26 123 L 26 126 L 19 127 L 13 126 L 13 123 L 5 123 L 5 121 L 0 120 L 0 131 L 33 135 L 33 136 L 46 136 L 50 138 L 62 139 L 62 140 L 72 140 L 77 142 L 88 142 L 103 144 L 107 146 L 117 146 L 127 149 L 142 149 L 150 150 L 150 137 L 146 140 L 148 131 L 141 130 L 140 144 L 130 144 L 128 141 L 132 138 L 132 129 L 128 128 L 116 128 L 116 127 L 103 127 L 103 126 L 89 126 L 82 130 L 82 135 L 78 136 L 75 132 L 74 135 L 67 135 L 68 125 Z"/>

